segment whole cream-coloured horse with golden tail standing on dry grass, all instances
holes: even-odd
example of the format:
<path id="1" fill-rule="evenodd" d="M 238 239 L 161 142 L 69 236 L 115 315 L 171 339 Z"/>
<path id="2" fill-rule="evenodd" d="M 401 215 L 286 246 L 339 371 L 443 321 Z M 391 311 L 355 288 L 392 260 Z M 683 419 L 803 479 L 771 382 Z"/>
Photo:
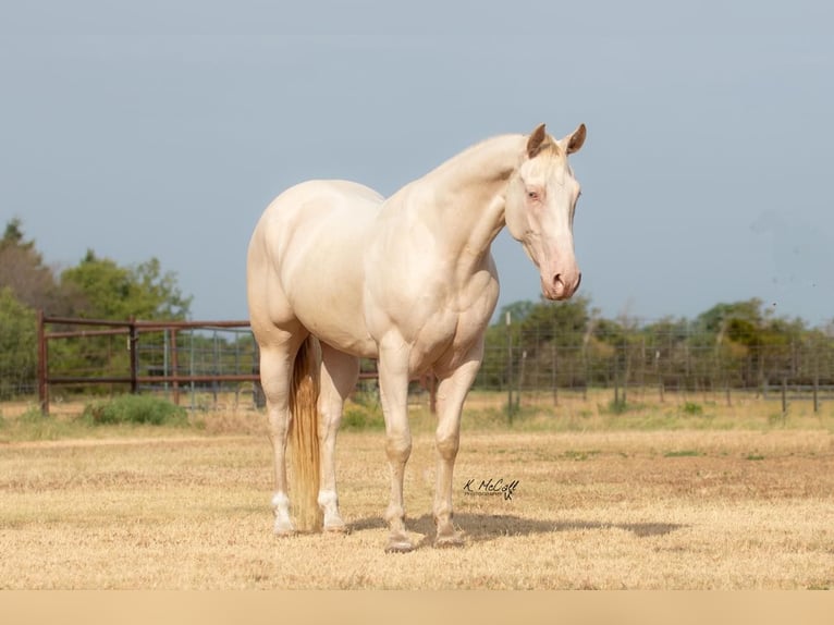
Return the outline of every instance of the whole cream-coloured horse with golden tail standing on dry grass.
<path id="1" fill-rule="evenodd" d="M 452 476 L 464 400 L 499 296 L 490 246 L 506 226 L 538 268 L 545 298 L 576 292 L 580 187 L 567 157 L 585 137 L 585 124 L 559 140 L 541 124 L 471 146 L 389 198 L 354 182 L 314 180 L 266 208 L 248 246 L 247 298 L 274 453 L 277 535 L 348 530 L 339 512 L 336 432 L 359 358 L 372 358 L 391 476 L 385 550 L 414 549 L 403 502 L 407 393 L 409 380 L 425 375 L 437 379 L 433 543 L 465 543 L 452 520 Z"/>

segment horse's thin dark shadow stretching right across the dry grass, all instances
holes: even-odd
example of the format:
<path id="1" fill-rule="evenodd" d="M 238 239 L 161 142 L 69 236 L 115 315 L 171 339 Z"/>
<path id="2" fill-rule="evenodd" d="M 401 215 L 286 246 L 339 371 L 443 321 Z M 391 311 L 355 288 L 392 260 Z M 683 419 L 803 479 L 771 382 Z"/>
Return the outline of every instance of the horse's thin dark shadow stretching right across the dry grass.
<path id="1" fill-rule="evenodd" d="M 455 514 L 455 526 L 463 530 L 467 541 L 488 542 L 504 536 L 530 536 L 577 529 L 623 529 L 638 538 L 665 536 L 684 527 L 674 523 L 600 523 L 596 520 L 539 520 L 512 514 Z M 348 525 L 349 530 L 384 529 L 380 517 L 368 517 Z M 406 529 L 422 535 L 418 548 L 428 547 L 434 538 L 434 519 L 430 514 L 406 519 Z"/>

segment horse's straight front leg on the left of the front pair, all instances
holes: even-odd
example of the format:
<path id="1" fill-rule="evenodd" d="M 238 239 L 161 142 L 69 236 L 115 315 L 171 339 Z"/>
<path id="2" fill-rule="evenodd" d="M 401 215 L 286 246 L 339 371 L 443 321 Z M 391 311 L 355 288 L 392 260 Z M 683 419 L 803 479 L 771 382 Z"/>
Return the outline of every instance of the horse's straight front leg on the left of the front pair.
<path id="1" fill-rule="evenodd" d="M 408 348 L 402 342 L 380 345 L 379 391 L 385 417 L 385 454 L 391 468 L 391 500 L 385 511 L 389 541 L 385 551 L 405 552 L 414 544 L 405 532 L 403 478 L 412 453 L 408 427 Z"/>

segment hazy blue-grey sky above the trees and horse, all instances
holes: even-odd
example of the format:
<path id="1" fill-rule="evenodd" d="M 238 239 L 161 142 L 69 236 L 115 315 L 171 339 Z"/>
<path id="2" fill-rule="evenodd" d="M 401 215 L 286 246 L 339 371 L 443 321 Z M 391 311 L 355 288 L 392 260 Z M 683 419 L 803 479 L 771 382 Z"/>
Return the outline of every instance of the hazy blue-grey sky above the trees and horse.
<path id="1" fill-rule="evenodd" d="M 759 297 L 834 319 L 827 0 L 44 0 L 0 8 L 0 220 L 45 260 L 156 257 L 245 319 L 263 208 L 308 179 L 390 195 L 487 137 L 588 127 L 579 293 L 608 318 Z M 538 271 L 493 244 L 499 308 Z"/>

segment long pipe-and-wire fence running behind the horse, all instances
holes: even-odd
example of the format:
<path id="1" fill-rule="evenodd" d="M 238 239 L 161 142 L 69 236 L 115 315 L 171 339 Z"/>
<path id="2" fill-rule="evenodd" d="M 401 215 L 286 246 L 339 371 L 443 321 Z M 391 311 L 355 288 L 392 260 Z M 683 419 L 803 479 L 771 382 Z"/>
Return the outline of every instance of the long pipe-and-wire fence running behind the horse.
<path id="1" fill-rule="evenodd" d="M 84 329 L 78 329 L 78 323 Z M 30 348 L 29 348 L 30 350 Z M 258 407 L 258 348 L 246 321 L 40 321 L 36 354 L 0 354 L 3 395 L 50 397 L 122 392 L 163 393 L 191 408 Z M 10 366 L 9 364 L 12 364 Z M 364 392 L 376 366 L 363 361 Z M 46 388 L 44 388 L 46 387 Z M 425 393 L 426 384 L 414 384 Z M 551 396 L 609 390 L 616 402 L 635 392 L 755 393 L 834 400 L 834 339 L 822 333 L 739 344 L 713 333 L 563 332 L 491 327 L 475 389 Z"/>

